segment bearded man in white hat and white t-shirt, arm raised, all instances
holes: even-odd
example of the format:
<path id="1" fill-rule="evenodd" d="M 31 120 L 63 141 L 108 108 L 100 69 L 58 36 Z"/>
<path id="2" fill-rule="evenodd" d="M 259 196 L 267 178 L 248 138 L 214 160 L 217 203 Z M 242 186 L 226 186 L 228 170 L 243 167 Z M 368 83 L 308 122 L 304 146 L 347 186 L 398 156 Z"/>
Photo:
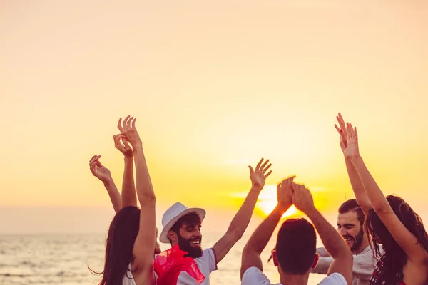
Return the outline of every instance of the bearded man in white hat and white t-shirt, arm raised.
<path id="1" fill-rule="evenodd" d="M 228 231 L 213 248 L 203 250 L 201 247 L 202 221 L 205 217 L 205 210 L 200 208 L 188 208 L 181 203 L 175 203 L 162 217 L 163 229 L 159 240 L 163 243 L 170 243 L 171 246 L 178 244 L 181 250 L 188 252 L 187 256 L 192 257 L 200 272 L 205 276 L 201 285 L 210 284 L 210 273 L 217 270 L 217 264 L 220 262 L 236 242 L 242 237 L 245 229 L 248 227 L 258 195 L 265 185 L 266 177 L 272 173 L 267 172 L 270 165 L 269 160 L 263 163 L 263 158 L 253 170 L 250 167 L 251 189 L 245 201 L 235 214 Z M 263 165 L 262 165 L 263 163 Z M 197 284 L 195 279 L 184 271 L 178 276 L 178 285 Z"/>

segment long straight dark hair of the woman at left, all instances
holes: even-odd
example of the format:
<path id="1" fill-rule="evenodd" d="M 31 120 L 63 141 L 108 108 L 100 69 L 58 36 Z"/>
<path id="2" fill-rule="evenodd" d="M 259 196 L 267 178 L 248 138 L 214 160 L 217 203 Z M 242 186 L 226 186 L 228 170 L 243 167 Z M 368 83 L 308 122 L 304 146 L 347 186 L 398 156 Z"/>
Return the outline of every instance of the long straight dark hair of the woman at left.
<path id="1" fill-rule="evenodd" d="M 128 274 L 128 264 L 133 261 L 133 244 L 136 241 L 140 224 L 140 209 L 128 206 L 117 212 L 108 227 L 106 240 L 106 262 L 104 263 L 103 279 L 99 285 L 122 284 L 123 276 Z"/>

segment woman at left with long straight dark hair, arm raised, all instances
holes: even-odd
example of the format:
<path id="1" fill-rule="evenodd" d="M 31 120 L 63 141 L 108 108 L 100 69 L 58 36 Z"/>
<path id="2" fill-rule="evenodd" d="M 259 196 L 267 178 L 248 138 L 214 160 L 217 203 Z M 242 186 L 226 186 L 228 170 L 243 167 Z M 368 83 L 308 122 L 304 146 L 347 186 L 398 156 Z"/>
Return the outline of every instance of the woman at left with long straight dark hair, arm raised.
<path id="1" fill-rule="evenodd" d="M 153 252 L 156 244 L 156 196 L 135 122 L 136 119 L 128 116 L 119 129 L 121 138 L 125 138 L 132 146 L 136 166 L 136 191 L 141 209 L 136 206 L 123 207 L 111 221 L 100 285 L 155 283 Z"/>

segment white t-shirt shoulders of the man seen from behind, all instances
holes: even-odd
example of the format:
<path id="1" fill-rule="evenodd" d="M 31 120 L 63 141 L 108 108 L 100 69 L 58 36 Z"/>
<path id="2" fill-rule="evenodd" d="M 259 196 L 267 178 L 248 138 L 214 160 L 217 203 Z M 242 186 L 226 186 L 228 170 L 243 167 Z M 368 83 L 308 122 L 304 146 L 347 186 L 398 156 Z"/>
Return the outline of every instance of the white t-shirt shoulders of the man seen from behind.
<path id="1" fill-rule="evenodd" d="M 267 279 L 267 276 L 263 274 L 260 269 L 257 267 L 250 267 L 247 269 L 243 275 L 243 281 L 241 285 L 275 285 L 270 283 L 270 280 Z M 282 285 L 277 283 L 276 285 Z M 325 277 L 319 283 L 319 285 L 347 285 L 345 277 L 339 273 L 332 273 L 330 276 Z"/>

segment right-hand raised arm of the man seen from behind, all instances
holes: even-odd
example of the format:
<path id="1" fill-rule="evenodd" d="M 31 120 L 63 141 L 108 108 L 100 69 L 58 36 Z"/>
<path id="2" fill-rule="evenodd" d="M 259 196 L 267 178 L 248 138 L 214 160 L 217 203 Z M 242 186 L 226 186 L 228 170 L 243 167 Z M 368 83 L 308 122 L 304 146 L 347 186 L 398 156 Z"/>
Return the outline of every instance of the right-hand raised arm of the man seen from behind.
<path id="1" fill-rule="evenodd" d="M 332 264 L 327 272 L 327 275 L 332 273 L 340 273 L 345 277 L 347 284 L 352 283 L 352 252 L 327 220 L 322 217 L 322 214 L 315 209 L 314 201 L 310 191 L 304 185 L 293 183 L 292 202 L 297 209 L 304 212 L 310 218 L 312 223 L 320 234 L 322 244 L 324 244 L 327 252 L 333 258 Z"/>

